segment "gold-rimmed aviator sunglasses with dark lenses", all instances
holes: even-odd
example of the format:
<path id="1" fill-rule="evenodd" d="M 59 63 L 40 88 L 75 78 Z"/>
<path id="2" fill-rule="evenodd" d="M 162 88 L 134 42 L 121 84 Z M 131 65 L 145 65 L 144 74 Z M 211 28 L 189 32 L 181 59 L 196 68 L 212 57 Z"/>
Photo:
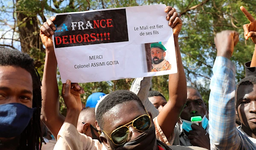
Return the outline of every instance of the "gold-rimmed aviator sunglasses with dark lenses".
<path id="1" fill-rule="evenodd" d="M 147 112 L 147 111 L 146 111 Z M 128 125 L 130 124 L 130 125 Z M 128 126 L 127 126 L 128 125 Z M 151 120 L 150 116 L 148 115 L 141 115 L 138 118 L 134 119 L 133 121 L 116 128 L 115 130 L 112 131 L 111 135 L 108 136 L 108 134 L 103 131 L 105 135 L 108 136 L 108 138 L 115 144 L 115 145 L 122 145 L 125 144 L 129 137 L 129 127 L 132 126 L 134 127 L 135 130 L 143 132 L 145 130 L 148 130 L 149 127 L 151 126 Z"/>

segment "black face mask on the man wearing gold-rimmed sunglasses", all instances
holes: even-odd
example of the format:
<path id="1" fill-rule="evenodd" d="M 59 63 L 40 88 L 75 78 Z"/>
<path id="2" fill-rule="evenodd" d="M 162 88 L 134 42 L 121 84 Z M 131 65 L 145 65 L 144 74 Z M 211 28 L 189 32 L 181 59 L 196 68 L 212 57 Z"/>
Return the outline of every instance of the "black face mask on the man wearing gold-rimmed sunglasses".
<path id="1" fill-rule="evenodd" d="M 155 127 L 152 126 L 141 133 L 137 138 L 128 141 L 121 147 L 114 148 L 113 150 L 153 150 L 154 147 L 157 147 L 157 139 Z"/>

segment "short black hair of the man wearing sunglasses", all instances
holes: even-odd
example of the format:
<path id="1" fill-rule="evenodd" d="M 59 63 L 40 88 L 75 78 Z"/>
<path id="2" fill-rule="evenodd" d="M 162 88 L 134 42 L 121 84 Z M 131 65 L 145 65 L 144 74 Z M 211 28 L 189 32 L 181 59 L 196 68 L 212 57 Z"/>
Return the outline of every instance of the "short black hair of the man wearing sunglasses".
<path id="1" fill-rule="evenodd" d="M 105 113 L 108 113 L 108 111 L 115 107 L 117 104 L 122 104 L 128 101 L 136 101 L 139 104 L 139 106 L 144 109 L 144 106 L 140 101 L 140 98 L 136 94 L 128 90 L 117 90 L 107 95 L 99 103 L 99 106 L 96 110 L 96 120 L 99 124 L 99 127 L 103 129 L 104 121 L 102 116 Z"/>

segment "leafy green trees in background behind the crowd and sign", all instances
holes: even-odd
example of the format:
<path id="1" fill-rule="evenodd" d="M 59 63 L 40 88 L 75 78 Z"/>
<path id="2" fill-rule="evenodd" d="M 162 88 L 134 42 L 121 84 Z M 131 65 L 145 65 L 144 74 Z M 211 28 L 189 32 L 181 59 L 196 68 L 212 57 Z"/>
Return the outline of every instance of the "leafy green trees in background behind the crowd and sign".
<path id="1" fill-rule="evenodd" d="M 256 17 L 255 0 L 0 0 L 0 46 L 29 53 L 42 75 L 45 53 L 38 33 L 41 24 L 50 16 L 60 12 L 158 3 L 175 6 L 182 15 L 183 29 L 179 43 L 187 83 L 199 89 L 204 101 L 207 102 L 209 98 L 209 82 L 216 56 L 213 38 L 217 32 L 231 29 L 241 34 L 232 59 L 237 67 L 237 81 L 244 78 L 243 64 L 250 61 L 254 44 L 243 38 L 242 25 L 248 23 L 248 20 L 239 7 L 245 6 Z M 61 88 L 60 76 L 57 77 Z M 109 93 L 117 89 L 129 89 L 132 81 L 133 79 L 123 79 L 81 84 L 86 92 L 82 95 L 82 101 L 85 103 L 93 92 Z M 169 97 L 168 75 L 153 77 L 152 83 L 152 90 L 158 90 L 166 98 Z M 61 111 L 64 112 L 64 109 L 61 101 Z"/>

